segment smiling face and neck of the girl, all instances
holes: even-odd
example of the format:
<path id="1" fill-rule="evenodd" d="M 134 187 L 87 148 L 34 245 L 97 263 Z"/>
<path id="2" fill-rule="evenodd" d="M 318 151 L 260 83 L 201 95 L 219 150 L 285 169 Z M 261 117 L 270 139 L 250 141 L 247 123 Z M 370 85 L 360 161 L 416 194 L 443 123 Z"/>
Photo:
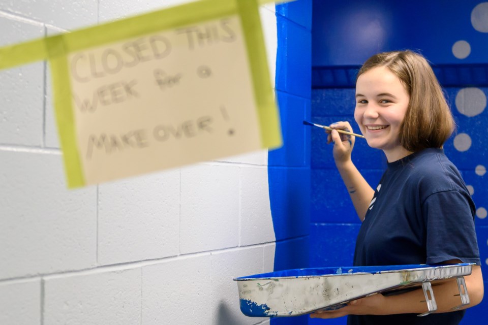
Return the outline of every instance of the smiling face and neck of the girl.
<path id="1" fill-rule="evenodd" d="M 357 79 L 354 119 L 368 145 L 383 150 L 390 163 L 410 154 L 399 139 L 409 100 L 403 83 L 386 67 L 373 68 Z"/>

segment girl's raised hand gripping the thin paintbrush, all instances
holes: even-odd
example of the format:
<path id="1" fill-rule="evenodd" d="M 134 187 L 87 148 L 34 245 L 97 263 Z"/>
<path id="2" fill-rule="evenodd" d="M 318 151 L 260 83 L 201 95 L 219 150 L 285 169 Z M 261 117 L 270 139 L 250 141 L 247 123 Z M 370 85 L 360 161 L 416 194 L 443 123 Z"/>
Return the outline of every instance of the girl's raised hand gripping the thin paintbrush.
<path id="1" fill-rule="evenodd" d="M 343 163 L 351 160 L 351 152 L 356 137 L 335 131 L 335 129 L 342 129 L 344 131 L 353 132 L 351 124 L 347 121 L 335 122 L 330 124 L 329 127 L 333 128 L 333 130 L 325 130 L 325 133 L 327 133 L 327 144 L 331 142 L 334 143 L 332 153 L 335 165 L 339 167 Z"/>

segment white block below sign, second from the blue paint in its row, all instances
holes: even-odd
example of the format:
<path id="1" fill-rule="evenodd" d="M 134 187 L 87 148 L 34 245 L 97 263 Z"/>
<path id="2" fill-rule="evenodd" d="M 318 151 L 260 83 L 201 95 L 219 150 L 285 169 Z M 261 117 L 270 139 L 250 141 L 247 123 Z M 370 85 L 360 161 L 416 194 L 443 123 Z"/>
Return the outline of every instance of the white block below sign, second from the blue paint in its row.
<path id="1" fill-rule="evenodd" d="M 181 169 L 181 253 L 238 245 L 239 173 L 224 165 Z"/>

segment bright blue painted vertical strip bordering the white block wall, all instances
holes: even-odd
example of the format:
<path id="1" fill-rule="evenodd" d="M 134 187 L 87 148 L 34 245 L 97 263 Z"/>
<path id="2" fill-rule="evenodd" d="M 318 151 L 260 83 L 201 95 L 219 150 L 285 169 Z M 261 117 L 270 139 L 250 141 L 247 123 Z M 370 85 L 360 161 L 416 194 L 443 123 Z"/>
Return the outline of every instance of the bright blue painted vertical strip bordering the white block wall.
<path id="1" fill-rule="evenodd" d="M 312 0 L 276 7 L 276 96 L 283 147 L 269 151 L 268 184 L 276 236 L 275 271 L 309 267 Z M 308 324 L 308 316 L 272 318 L 271 324 Z"/>

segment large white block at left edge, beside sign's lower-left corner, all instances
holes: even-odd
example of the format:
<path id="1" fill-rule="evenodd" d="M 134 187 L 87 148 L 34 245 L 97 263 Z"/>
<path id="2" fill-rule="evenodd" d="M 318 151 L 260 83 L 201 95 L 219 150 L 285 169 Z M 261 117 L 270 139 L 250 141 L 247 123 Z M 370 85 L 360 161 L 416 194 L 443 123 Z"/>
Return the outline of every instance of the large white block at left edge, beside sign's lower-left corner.
<path id="1" fill-rule="evenodd" d="M 0 150 L 0 279 L 96 264 L 96 187 L 68 190 L 62 157 Z"/>

